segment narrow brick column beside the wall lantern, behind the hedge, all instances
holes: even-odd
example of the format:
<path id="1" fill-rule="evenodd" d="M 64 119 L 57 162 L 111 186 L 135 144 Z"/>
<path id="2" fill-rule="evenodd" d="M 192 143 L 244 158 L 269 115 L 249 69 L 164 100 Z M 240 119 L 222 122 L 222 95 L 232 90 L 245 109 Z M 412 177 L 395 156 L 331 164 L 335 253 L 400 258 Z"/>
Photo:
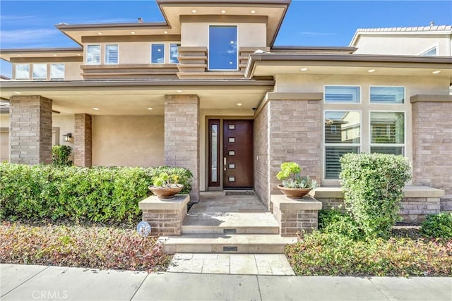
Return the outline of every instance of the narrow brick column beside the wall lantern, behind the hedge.
<path id="1" fill-rule="evenodd" d="M 92 140 L 93 131 L 91 115 L 81 113 L 75 115 L 76 133 L 74 134 L 74 164 L 90 167 L 93 165 Z"/>

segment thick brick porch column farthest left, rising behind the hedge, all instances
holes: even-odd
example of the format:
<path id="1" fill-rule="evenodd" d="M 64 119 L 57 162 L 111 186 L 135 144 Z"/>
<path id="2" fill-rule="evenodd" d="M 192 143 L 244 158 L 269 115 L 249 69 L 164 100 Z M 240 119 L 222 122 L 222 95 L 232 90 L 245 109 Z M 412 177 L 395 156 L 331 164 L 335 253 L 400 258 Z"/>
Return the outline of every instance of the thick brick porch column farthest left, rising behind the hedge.
<path id="1" fill-rule="evenodd" d="M 52 164 L 52 99 L 11 97 L 9 121 L 10 162 Z"/>

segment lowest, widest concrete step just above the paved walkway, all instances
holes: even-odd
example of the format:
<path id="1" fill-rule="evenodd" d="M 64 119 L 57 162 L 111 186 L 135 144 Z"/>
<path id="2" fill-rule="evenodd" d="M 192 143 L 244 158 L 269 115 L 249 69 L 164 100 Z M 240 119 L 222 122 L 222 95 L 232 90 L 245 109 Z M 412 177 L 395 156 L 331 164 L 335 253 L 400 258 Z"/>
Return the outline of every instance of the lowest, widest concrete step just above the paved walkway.
<path id="1" fill-rule="evenodd" d="M 163 251 L 174 253 L 284 253 L 285 245 L 297 238 L 278 234 L 184 234 L 160 237 Z"/>

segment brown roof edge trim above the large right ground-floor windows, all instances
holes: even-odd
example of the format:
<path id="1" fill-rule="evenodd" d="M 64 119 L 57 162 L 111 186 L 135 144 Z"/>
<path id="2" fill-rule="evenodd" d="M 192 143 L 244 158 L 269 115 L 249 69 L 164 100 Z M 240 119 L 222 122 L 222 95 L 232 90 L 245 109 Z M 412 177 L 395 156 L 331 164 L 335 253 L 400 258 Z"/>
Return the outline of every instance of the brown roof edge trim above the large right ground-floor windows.
<path id="1" fill-rule="evenodd" d="M 251 54 L 245 70 L 245 78 L 251 78 L 258 62 L 274 64 L 282 62 L 343 62 L 343 63 L 420 63 L 444 65 L 441 68 L 452 69 L 451 56 L 388 56 L 369 54 Z"/>

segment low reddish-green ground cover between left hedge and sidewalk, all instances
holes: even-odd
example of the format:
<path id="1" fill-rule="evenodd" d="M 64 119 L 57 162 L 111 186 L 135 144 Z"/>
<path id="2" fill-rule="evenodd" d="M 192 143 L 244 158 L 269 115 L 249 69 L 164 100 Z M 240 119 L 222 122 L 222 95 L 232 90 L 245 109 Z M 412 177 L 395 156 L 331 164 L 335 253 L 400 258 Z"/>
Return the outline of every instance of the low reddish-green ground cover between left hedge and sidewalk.
<path id="1" fill-rule="evenodd" d="M 121 228 L 0 224 L 0 263 L 166 271 L 157 238 Z"/>

